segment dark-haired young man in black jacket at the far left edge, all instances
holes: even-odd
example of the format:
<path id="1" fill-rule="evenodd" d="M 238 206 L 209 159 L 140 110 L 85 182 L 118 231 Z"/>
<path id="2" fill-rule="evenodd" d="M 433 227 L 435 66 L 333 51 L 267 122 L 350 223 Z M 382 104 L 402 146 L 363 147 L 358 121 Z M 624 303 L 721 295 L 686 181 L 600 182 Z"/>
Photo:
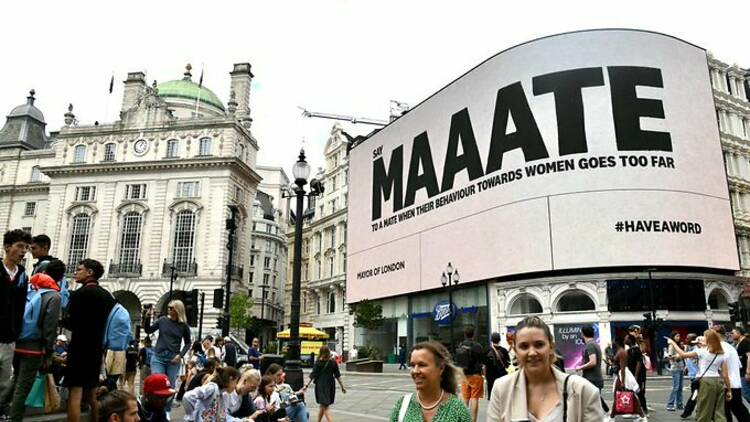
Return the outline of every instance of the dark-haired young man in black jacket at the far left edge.
<path id="1" fill-rule="evenodd" d="M 3 235 L 3 268 L 0 271 L 0 405 L 7 404 L 11 389 L 14 343 L 21 334 L 29 277 L 21 261 L 29 250 L 31 235 L 10 230 Z M 0 409 L 5 413 L 7 407 Z"/>

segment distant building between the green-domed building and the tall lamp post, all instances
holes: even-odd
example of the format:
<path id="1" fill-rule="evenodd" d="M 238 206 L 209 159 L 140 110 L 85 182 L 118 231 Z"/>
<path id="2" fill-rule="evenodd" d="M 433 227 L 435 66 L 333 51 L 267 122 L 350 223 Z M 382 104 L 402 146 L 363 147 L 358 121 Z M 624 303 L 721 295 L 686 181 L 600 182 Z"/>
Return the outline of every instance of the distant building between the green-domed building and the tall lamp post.
<path id="1" fill-rule="evenodd" d="M 267 344 L 276 338 L 284 322 L 289 199 L 283 195 L 289 188 L 289 178 L 280 167 L 256 169 L 263 180 L 252 211 L 248 312 L 255 317 L 253 335 Z"/>

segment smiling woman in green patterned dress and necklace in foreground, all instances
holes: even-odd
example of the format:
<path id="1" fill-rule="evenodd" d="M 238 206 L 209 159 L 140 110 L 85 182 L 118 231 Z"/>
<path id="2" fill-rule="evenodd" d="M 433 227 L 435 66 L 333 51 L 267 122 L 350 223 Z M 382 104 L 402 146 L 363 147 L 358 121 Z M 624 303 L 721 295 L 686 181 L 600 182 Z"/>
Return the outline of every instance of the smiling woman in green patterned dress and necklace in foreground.
<path id="1" fill-rule="evenodd" d="M 418 343 L 409 362 L 417 391 L 396 402 L 391 422 L 471 422 L 469 410 L 456 397 L 461 372 L 442 344 Z"/>

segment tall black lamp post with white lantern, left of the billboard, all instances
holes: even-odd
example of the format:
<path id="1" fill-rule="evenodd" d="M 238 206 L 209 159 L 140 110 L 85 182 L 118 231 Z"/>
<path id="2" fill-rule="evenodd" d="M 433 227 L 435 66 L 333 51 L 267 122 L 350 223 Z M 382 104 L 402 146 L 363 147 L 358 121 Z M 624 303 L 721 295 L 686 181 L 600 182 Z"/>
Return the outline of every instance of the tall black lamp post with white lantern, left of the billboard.
<path id="1" fill-rule="evenodd" d="M 289 385 L 295 390 L 302 388 L 303 375 L 300 366 L 300 341 L 299 341 L 299 313 L 300 313 L 300 278 L 302 274 L 302 219 L 303 202 L 305 196 L 314 197 L 323 193 L 323 185 L 318 180 L 310 181 L 310 192 L 305 192 L 304 186 L 310 177 L 310 165 L 305 160 L 305 150 L 299 152 L 299 159 L 292 167 L 294 183 L 289 196 L 297 198 L 297 207 L 294 215 L 294 261 L 292 261 L 292 303 L 289 317 L 289 343 L 287 343 L 288 359 L 284 372 Z"/>

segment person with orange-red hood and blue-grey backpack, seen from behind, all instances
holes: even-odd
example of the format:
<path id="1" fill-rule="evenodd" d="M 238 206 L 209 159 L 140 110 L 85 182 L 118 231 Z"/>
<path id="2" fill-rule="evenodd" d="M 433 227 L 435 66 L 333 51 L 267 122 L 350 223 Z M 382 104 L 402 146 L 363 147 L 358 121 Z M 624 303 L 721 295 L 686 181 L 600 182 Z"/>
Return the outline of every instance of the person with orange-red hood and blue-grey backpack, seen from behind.
<path id="1" fill-rule="evenodd" d="M 13 360 L 13 400 L 10 418 L 23 420 L 26 397 L 31 391 L 40 369 L 52 366 L 55 334 L 60 321 L 60 287 L 55 280 L 65 274 L 65 264 L 52 261 L 42 273 L 31 277 L 29 293 L 21 335 L 16 340 L 16 355 Z"/>

